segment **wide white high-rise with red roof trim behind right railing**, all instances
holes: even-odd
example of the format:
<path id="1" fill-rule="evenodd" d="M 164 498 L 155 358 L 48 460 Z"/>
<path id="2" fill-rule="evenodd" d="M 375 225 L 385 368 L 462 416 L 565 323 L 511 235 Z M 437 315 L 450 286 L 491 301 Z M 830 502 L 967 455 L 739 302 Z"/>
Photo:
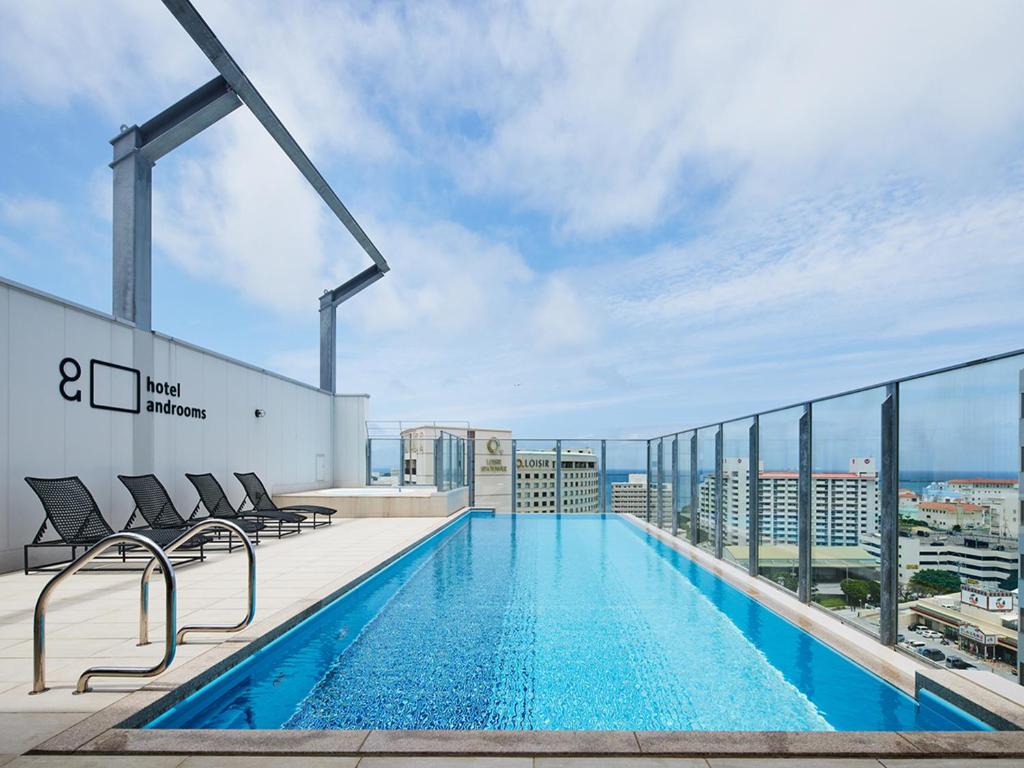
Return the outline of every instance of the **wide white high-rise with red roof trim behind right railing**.
<path id="1" fill-rule="evenodd" d="M 761 536 L 766 544 L 796 544 L 799 527 L 799 473 L 765 472 L 759 467 Z M 814 544 L 854 546 L 878 530 L 879 475 L 871 458 L 850 460 L 849 472 L 814 472 Z M 715 475 L 700 481 L 697 514 L 701 528 L 713 529 Z M 744 458 L 722 462 L 722 542 L 746 542 L 750 466 Z"/>

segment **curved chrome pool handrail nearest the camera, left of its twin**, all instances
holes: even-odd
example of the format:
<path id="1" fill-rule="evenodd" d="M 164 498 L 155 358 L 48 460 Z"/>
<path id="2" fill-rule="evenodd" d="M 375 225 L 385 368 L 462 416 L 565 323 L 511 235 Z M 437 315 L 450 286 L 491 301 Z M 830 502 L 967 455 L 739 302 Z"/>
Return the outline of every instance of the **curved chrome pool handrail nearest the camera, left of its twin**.
<path id="1" fill-rule="evenodd" d="M 148 550 L 153 554 L 153 563 L 159 563 L 164 574 L 166 594 L 164 604 L 167 618 L 164 629 L 164 657 L 154 667 L 90 667 L 78 679 L 76 693 L 89 690 L 89 680 L 93 677 L 154 677 L 170 667 L 174 660 L 174 650 L 177 644 L 175 628 L 177 627 L 177 584 L 174 579 L 174 567 L 163 550 L 152 540 L 138 534 L 121 532 L 102 539 L 95 547 L 84 552 L 81 557 L 71 562 L 63 570 L 53 577 L 36 600 L 36 610 L 33 615 L 32 635 L 32 693 L 42 693 L 46 690 L 46 605 L 50 595 L 65 579 L 77 572 L 111 547 L 132 545 Z"/>

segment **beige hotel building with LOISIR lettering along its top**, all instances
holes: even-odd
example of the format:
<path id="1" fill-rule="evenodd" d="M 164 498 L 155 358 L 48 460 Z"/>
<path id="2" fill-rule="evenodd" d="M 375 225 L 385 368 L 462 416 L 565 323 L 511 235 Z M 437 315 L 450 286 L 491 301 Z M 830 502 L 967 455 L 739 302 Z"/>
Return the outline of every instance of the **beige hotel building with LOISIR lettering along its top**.
<path id="1" fill-rule="evenodd" d="M 516 511 L 557 511 L 555 451 L 516 452 Z M 561 511 L 597 512 L 600 504 L 597 456 L 590 449 L 562 449 Z"/>

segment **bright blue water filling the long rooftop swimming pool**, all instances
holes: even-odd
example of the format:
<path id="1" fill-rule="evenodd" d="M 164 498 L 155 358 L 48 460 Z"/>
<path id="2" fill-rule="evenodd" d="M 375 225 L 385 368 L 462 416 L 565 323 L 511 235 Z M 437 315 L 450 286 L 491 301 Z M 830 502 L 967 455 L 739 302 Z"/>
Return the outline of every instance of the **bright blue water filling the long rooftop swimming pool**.
<path id="1" fill-rule="evenodd" d="M 155 728 L 958 730 L 647 536 L 473 512 Z"/>

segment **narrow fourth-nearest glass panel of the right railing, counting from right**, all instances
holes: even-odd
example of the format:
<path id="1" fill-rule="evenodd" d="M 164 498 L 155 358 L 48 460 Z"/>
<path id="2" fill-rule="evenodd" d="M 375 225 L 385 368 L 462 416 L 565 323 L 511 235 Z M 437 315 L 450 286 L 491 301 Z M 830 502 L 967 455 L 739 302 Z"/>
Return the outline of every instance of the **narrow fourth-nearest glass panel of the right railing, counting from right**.
<path id="1" fill-rule="evenodd" d="M 722 558 L 744 570 L 750 565 L 753 423 L 753 419 L 739 419 L 722 425 Z"/>

